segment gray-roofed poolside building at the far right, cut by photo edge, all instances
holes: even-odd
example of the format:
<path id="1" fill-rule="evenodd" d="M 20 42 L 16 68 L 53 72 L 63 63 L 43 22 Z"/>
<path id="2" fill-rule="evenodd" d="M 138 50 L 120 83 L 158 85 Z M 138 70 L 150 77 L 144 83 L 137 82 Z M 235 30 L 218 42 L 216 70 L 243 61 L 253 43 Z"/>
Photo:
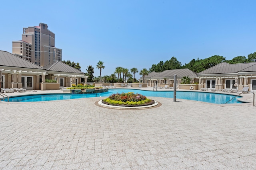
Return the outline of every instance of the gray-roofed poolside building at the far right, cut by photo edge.
<path id="1" fill-rule="evenodd" d="M 199 88 L 256 90 L 256 63 L 220 63 L 197 74 Z"/>

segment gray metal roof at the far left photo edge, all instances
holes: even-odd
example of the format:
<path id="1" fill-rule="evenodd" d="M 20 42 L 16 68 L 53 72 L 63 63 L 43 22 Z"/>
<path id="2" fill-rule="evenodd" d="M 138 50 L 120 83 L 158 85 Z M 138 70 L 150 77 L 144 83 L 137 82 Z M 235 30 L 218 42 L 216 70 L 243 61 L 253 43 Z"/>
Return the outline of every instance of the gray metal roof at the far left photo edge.
<path id="1" fill-rule="evenodd" d="M 12 53 L 7 51 L 0 50 L 0 66 L 10 66 L 10 67 L 20 67 L 20 68 L 35 68 L 45 70 L 43 67 L 40 67 L 26 59 L 22 59 Z"/>

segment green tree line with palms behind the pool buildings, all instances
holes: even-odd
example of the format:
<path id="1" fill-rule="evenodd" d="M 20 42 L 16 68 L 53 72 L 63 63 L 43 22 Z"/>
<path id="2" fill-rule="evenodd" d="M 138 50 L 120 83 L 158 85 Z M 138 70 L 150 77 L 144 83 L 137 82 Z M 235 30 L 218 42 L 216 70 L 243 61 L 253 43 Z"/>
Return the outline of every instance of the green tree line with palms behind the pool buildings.
<path id="1" fill-rule="evenodd" d="M 66 63 L 78 70 L 80 70 L 81 66 L 79 63 L 74 63 L 71 61 L 62 61 L 63 63 Z M 229 64 L 237 64 L 237 63 L 251 63 L 256 62 L 256 52 L 251 53 L 247 56 L 238 56 L 234 57 L 231 60 L 226 60 L 225 57 L 214 55 L 212 57 L 206 58 L 206 59 L 192 59 L 189 63 L 185 63 L 182 65 L 180 61 L 176 59 L 176 57 L 172 57 L 168 61 L 160 61 L 158 64 L 152 64 L 151 68 L 148 70 L 147 68 L 143 68 L 140 70 L 139 74 L 142 75 L 143 81 L 146 75 L 148 75 L 150 72 L 162 72 L 164 70 L 172 70 L 172 69 L 180 69 L 180 68 L 188 68 L 196 73 L 204 71 L 212 66 L 215 66 L 219 63 L 226 62 Z M 138 73 L 137 68 L 131 68 L 130 71 L 128 68 L 123 67 L 116 67 L 113 74 L 101 76 L 102 69 L 105 68 L 104 62 L 99 61 L 96 65 L 96 68 L 100 69 L 100 76 L 95 77 L 94 76 L 94 67 L 89 65 L 86 69 L 85 75 L 88 76 L 87 82 L 138 82 L 138 80 L 135 78 L 135 74 Z M 117 76 L 116 76 L 117 74 Z M 127 78 L 127 81 L 126 81 Z"/>

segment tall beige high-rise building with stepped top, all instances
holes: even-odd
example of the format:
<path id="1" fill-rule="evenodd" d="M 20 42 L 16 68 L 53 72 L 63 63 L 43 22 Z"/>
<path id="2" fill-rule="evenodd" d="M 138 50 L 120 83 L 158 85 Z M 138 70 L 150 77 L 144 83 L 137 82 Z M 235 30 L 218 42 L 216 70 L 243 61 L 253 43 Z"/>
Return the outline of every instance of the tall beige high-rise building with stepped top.
<path id="1" fill-rule="evenodd" d="M 12 53 L 39 66 L 62 60 L 62 49 L 55 47 L 55 34 L 45 23 L 23 28 L 22 40 L 12 41 Z"/>

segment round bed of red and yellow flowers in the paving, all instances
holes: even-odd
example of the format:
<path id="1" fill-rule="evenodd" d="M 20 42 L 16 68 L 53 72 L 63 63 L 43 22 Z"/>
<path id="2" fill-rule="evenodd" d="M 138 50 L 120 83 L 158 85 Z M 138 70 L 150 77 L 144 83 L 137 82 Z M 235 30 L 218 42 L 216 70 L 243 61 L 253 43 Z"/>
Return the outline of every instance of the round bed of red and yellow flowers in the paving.
<path id="1" fill-rule="evenodd" d="M 128 92 L 112 94 L 108 98 L 102 100 L 102 103 L 112 106 L 148 106 L 154 104 L 155 101 L 146 98 L 146 96 L 143 96 L 142 94 Z"/>

